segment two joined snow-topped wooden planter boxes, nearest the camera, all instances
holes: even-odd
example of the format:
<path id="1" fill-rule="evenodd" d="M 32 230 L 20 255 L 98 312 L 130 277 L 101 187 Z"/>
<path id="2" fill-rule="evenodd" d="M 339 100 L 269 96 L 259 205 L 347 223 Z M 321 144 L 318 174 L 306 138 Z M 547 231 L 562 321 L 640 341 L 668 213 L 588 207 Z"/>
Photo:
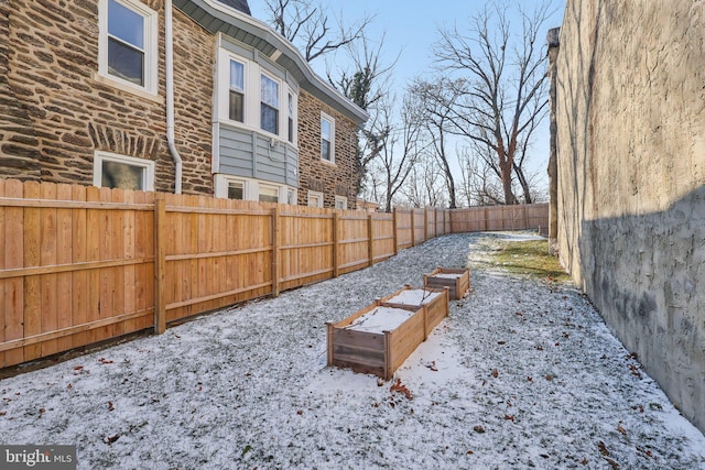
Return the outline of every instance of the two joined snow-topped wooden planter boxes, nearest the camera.
<path id="1" fill-rule="evenodd" d="M 328 321 L 328 365 L 390 380 L 448 315 L 447 289 L 433 292 L 422 305 L 406 303 L 414 296 L 410 291 L 413 289 L 405 287 L 338 323 Z M 423 299 L 423 295 L 416 296 Z M 401 302 L 383 302 L 389 299 Z"/>

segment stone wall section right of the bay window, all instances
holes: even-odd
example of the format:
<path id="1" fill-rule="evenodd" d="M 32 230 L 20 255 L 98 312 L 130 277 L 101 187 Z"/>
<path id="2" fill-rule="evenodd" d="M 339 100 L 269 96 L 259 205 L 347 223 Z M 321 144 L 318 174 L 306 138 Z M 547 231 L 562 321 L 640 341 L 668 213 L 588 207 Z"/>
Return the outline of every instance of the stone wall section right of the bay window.
<path id="1" fill-rule="evenodd" d="M 335 119 L 335 163 L 321 159 L 321 113 Z M 301 90 L 299 95 L 299 204 L 308 204 L 308 192 L 324 194 L 324 207 L 335 207 L 335 196 L 356 208 L 357 127 L 352 121 Z"/>

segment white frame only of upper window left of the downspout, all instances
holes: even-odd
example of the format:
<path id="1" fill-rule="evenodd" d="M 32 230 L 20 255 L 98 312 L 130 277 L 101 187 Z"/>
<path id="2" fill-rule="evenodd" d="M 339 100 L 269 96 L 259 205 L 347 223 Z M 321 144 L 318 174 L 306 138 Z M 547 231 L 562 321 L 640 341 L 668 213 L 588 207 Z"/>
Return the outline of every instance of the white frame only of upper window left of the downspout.
<path id="1" fill-rule="evenodd" d="M 111 75 L 108 72 L 108 0 L 98 0 L 98 76 L 127 91 L 147 91 L 156 96 L 159 85 L 158 19 L 156 11 L 137 0 L 115 0 L 144 19 L 144 85 Z"/>

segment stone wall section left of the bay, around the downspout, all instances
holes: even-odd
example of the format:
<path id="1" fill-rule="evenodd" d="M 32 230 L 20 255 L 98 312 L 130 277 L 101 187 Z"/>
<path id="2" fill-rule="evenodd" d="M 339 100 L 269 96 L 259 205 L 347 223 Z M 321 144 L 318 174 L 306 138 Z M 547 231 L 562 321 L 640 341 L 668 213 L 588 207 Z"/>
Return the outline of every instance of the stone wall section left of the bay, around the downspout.
<path id="1" fill-rule="evenodd" d="M 94 151 L 155 162 L 158 190 L 173 192 L 165 138 L 164 15 L 159 0 L 159 95 L 145 98 L 97 79 L 98 6 L 75 0 L 0 4 L 1 176 L 93 184 Z M 213 36 L 174 13 L 176 145 L 184 193 L 213 193 Z M 206 54 L 204 54 L 206 52 Z M 11 132 L 11 133 L 10 133 Z M 7 160 L 6 157 L 10 157 Z M 41 168 L 41 173 L 40 173 Z"/>

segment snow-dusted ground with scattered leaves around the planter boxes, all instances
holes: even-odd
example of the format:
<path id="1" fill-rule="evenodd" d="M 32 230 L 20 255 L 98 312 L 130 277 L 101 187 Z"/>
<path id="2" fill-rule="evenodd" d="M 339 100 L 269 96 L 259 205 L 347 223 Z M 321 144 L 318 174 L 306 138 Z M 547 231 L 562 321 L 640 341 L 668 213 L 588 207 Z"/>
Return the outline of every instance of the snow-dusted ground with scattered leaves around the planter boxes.
<path id="1" fill-rule="evenodd" d="M 477 263 L 498 237 L 516 236 L 437 238 L 4 379 L 0 444 L 75 444 L 80 469 L 705 468 L 705 437 L 578 291 Z M 473 293 L 398 391 L 326 368 L 326 320 L 468 262 Z"/>

